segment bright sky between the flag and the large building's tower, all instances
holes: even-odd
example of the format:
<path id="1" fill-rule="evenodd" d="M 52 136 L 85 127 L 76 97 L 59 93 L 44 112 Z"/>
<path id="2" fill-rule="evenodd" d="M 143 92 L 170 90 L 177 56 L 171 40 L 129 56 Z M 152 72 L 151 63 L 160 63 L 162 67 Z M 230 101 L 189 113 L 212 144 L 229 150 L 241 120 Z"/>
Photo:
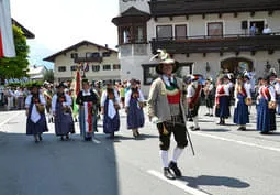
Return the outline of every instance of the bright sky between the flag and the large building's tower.
<path id="1" fill-rule="evenodd" d="M 117 44 L 116 26 L 111 20 L 119 14 L 119 0 L 10 0 L 10 3 L 12 18 L 35 34 L 29 45 L 30 61 L 36 64 L 82 40 L 109 44 L 111 48 Z"/>

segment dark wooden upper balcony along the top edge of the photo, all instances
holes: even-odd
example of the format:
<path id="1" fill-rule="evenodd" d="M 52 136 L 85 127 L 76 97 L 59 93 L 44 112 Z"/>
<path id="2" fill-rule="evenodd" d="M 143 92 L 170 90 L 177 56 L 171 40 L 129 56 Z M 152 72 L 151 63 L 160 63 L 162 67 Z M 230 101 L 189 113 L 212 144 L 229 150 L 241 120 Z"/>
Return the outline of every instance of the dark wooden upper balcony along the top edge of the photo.
<path id="1" fill-rule="evenodd" d="M 159 17 L 175 17 L 175 15 L 193 15 L 193 14 L 209 14 L 209 13 L 237 13 L 256 11 L 268 11 L 272 14 L 273 11 L 280 10 L 279 0 L 166 0 L 149 1 L 150 15 Z"/>

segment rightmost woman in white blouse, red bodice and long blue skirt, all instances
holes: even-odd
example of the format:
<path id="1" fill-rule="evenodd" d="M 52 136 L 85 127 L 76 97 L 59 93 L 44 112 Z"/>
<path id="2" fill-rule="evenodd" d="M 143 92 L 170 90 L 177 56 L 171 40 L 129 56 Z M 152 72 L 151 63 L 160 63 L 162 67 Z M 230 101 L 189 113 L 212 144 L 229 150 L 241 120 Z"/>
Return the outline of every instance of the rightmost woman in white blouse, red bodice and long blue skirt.
<path id="1" fill-rule="evenodd" d="M 267 134 L 269 131 L 276 130 L 276 91 L 273 86 L 269 85 L 269 76 L 264 79 L 257 99 L 259 101 L 257 130 Z"/>

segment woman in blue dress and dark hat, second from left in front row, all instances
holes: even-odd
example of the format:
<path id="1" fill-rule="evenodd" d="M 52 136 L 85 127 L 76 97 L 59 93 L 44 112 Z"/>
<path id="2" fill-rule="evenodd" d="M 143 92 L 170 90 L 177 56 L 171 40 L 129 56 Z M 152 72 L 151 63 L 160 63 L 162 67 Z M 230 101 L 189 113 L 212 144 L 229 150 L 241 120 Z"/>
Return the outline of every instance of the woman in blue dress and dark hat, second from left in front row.
<path id="1" fill-rule="evenodd" d="M 57 93 L 52 99 L 52 111 L 55 117 L 55 133 L 61 141 L 69 140 L 69 133 L 74 133 L 74 120 L 71 116 L 71 97 L 65 93 L 65 84 L 60 83 Z"/>

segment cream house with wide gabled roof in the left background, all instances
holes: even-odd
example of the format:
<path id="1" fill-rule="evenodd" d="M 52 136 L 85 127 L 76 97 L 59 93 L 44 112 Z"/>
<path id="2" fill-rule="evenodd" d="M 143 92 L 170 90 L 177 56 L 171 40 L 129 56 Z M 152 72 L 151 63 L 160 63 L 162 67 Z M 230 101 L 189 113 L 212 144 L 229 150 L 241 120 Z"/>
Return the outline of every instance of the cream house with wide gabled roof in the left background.
<path id="1" fill-rule="evenodd" d="M 85 76 L 90 80 L 120 80 L 121 65 L 117 52 L 107 45 L 82 41 L 67 47 L 44 61 L 53 62 L 55 82 L 71 80 L 78 67 L 83 67 Z"/>

